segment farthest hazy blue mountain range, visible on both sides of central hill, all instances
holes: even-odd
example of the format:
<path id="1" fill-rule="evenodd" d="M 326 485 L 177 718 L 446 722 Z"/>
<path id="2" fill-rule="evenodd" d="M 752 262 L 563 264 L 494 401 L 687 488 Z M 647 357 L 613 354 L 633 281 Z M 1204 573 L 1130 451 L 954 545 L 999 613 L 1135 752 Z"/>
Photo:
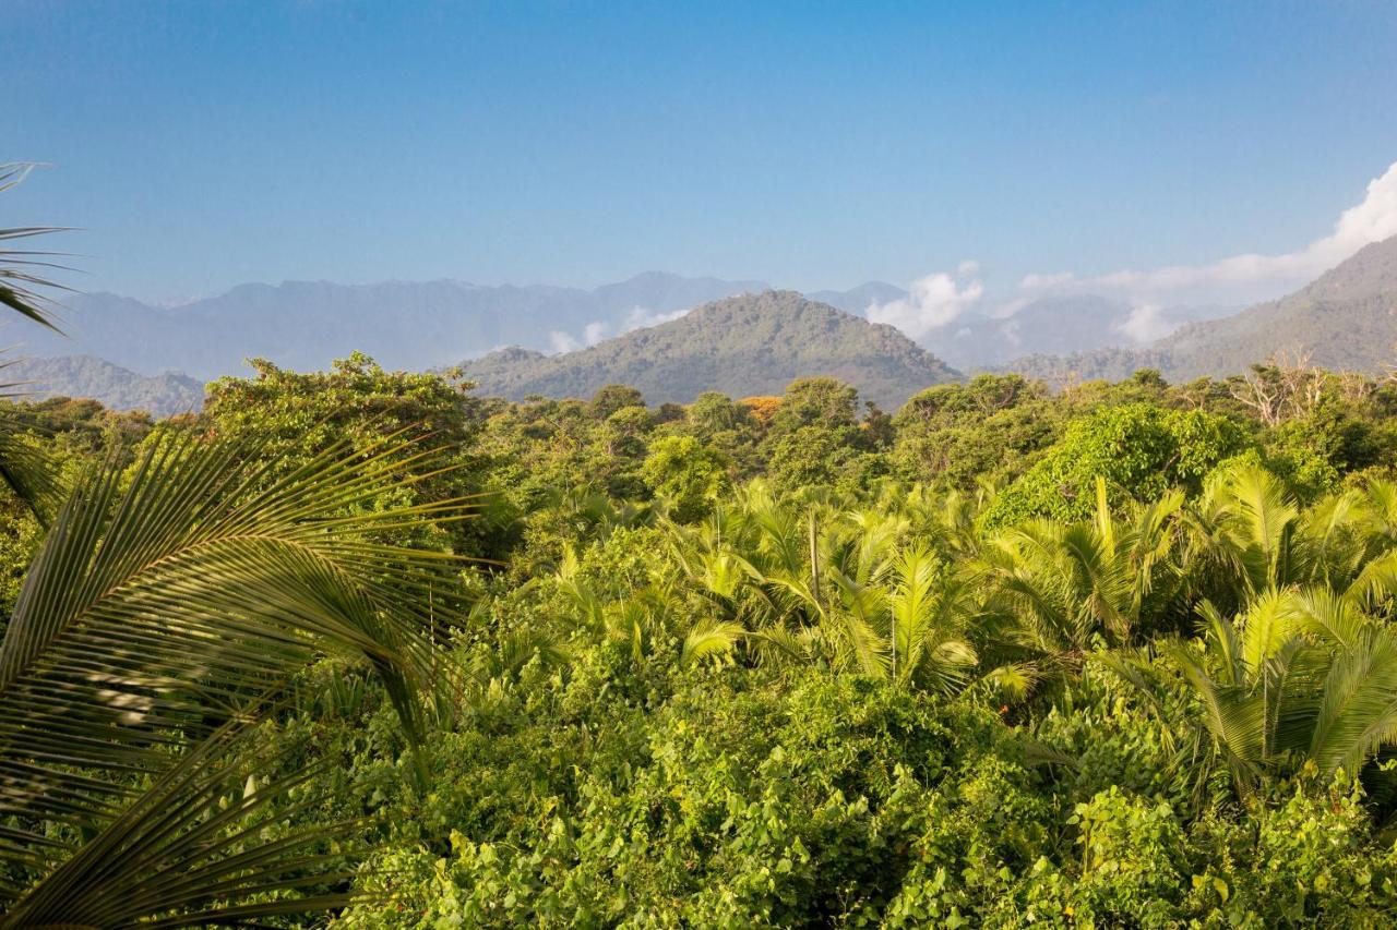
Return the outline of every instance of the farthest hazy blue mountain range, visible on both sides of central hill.
<path id="1" fill-rule="evenodd" d="M 703 303 L 770 289 L 763 281 L 647 272 L 591 290 L 460 281 L 247 283 L 179 306 L 84 293 L 63 307 L 63 337 L 31 331 L 22 349 L 29 356 L 89 355 L 133 373 L 177 370 L 203 380 L 243 371 L 250 357 L 306 370 L 353 350 L 388 369 L 422 370 L 504 346 L 549 353 L 585 348 Z M 806 296 L 865 316 L 872 304 L 902 300 L 907 292 L 872 281 Z M 1151 324 L 1172 328 L 1190 318 L 1197 314 L 1176 309 Z M 1007 320 L 968 313 L 922 344 L 970 369 L 1007 362 L 1024 346 L 1070 352 L 1141 342 L 1137 335 L 1129 304 L 1087 295 L 1039 300 Z"/>

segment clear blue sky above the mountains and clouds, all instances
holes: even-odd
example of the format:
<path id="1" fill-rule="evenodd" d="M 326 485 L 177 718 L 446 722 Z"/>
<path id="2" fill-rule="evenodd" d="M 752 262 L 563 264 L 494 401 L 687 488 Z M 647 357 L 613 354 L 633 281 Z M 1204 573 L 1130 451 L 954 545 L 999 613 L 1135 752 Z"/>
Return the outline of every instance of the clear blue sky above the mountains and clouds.
<path id="1" fill-rule="evenodd" d="M 1397 161 L 1397 4 L 8 0 L 4 225 L 77 283 L 800 289 L 1292 253 Z M 964 270 L 963 270 L 964 271 Z"/>

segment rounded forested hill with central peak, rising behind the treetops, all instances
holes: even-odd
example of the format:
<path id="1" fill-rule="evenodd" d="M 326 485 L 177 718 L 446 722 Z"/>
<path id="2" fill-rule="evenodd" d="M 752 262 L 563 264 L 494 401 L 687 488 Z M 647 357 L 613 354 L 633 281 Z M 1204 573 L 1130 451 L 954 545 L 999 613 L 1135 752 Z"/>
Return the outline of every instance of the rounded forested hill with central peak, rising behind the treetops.
<path id="1" fill-rule="evenodd" d="M 888 409 L 957 377 L 895 328 L 793 290 L 718 300 L 578 352 L 504 349 L 464 367 L 481 394 L 591 397 L 617 383 L 640 388 L 655 404 L 687 402 L 704 391 L 780 394 L 796 377 L 833 376 Z"/>

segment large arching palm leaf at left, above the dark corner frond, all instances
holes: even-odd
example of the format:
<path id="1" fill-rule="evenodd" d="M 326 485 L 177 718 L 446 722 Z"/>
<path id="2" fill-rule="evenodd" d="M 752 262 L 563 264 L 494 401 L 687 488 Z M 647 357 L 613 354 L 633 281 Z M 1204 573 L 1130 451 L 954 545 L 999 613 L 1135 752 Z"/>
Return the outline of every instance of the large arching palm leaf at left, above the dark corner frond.
<path id="1" fill-rule="evenodd" d="M 187 746 L 247 719 L 324 652 L 366 659 L 415 730 L 415 688 L 433 667 L 415 595 L 453 556 L 380 533 L 455 519 L 468 503 L 373 510 L 433 473 L 433 452 L 395 437 L 278 479 L 258 461 L 246 444 L 170 437 L 130 475 L 95 466 L 54 519 L 0 642 L 0 852 L 32 874 L 71 874 L 61 863 L 94 855 Z M 0 903 L 20 891 L 0 887 Z M 81 896 L 53 901 L 81 913 Z"/>

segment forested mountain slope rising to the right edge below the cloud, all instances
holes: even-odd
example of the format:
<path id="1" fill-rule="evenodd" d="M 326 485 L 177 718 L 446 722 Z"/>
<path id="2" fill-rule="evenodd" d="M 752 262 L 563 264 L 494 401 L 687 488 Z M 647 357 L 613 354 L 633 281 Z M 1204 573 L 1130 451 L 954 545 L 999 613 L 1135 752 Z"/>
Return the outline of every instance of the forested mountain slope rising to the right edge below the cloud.
<path id="1" fill-rule="evenodd" d="M 1295 293 L 1222 320 L 1185 325 L 1137 350 L 1035 355 L 1003 366 L 1052 383 L 1120 378 L 1139 367 L 1171 381 L 1225 377 L 1277 353 L 1375 374 L 1397 360 L 1397 237 L 1365 246 Z"/>

